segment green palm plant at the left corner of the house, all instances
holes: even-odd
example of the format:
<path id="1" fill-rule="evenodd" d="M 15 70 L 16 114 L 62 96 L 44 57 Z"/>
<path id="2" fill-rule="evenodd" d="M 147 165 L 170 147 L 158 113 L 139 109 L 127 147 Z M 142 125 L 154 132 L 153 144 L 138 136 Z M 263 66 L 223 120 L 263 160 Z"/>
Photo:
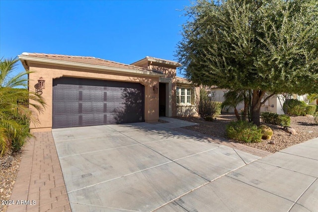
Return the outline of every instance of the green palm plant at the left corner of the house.
<path id="1" fill-rule="evenodd" d="M 40 95 L 26 88 L 29 71 L 12 74 L 18 61 L 0 60 L 0 156 L 19 150 L 26 139 L 33 137 L 29 124 L 38 123 L 35 112 L 41 112 L 45 106 Z"/>

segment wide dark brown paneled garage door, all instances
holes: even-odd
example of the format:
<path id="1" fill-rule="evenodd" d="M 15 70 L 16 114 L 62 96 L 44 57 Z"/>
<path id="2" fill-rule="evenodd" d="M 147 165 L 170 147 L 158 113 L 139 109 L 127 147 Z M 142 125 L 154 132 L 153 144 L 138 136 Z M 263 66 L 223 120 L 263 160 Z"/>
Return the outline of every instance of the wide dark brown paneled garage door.
<path id="1" fill-rule="evenodd" d="M 53 128 L 144 122 L 140 83 L 62 77 L 53 80 Z"/>

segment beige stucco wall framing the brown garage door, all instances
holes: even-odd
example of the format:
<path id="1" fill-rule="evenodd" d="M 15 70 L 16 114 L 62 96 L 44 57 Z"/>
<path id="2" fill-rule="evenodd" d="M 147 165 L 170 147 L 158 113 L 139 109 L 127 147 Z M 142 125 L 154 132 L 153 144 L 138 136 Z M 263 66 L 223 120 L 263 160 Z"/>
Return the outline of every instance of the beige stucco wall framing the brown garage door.
<path id="1" fill-rule="evenodd" d="M 29 89 L 35 91 L 34 86 L 42 76 L 45 80 L 45 89 L 43 89 L 42 97 L 47 104 L 43 113 L 38 114 L 40 124 L 34 125 L 34 123 L 31 123 L 30 127 L 32 131 L 47 131 L 52 129 L 53 79 L 63 76 L 141 83 L 145 86 L 145 121 L 157 122 L 159 119 L 159 96 L 153 90 L 154 85 L 159 87 L 159 77 L 136 76 L 128 73 L 120 74 L 104 70 L 87 70 L 35 63 L 29 63 L 29 67 L 30 71 L 32 71 L 29 74 Z"/>

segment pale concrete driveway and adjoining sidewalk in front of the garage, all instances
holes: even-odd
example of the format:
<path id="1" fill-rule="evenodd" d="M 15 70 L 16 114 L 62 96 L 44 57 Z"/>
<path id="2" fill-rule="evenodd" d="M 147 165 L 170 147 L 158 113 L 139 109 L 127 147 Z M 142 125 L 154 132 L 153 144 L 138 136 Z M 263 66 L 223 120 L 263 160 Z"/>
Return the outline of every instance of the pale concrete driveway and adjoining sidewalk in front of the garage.
<path id="1" fill-rule="evenodd" d="M 287 212 L 318 204 L 317 158 L 297 156 L 295 163 L 293 154 L 279 152 L 258 160 L 147 123 L 52 133 L 73 212 Z"/>

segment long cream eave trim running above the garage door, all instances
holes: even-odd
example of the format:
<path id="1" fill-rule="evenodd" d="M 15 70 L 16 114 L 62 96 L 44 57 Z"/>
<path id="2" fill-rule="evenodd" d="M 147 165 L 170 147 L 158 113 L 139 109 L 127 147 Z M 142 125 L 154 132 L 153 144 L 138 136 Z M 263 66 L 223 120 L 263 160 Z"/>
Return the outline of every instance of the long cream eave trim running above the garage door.
<path id="1" fill-rule="evenodd" d="M 20 60 L 33 61 L 33 62 L 45 63 L 45 64 L 49 63 L 49 64 L 56 64 L 56 65 L 78 67 L 78 68 L 99 69 L 99 70 L 105 70 L 110 72 L 130 73 L 130 74 L 136 74 L 136 75 L 150 75 L 150 76 L 159 76 L 159 77 L 164 76 L 163 73 L 154 73 L 151 71 L 137 71 L 137 70 L 123 69 L 123 68 L 114 68 L 114 67 L 106 67 L 106 66 L 100 66 L 100 65 L 90 65 L 90 64 L 83 64 L 83 63 L 77 63 L 77 62 L 53 60 L 53 59 L 47 59 L 47 58 L 36 58 L 36 57 L 30 57 L 25 55 L 18 55 L 18 58 Z"/>

